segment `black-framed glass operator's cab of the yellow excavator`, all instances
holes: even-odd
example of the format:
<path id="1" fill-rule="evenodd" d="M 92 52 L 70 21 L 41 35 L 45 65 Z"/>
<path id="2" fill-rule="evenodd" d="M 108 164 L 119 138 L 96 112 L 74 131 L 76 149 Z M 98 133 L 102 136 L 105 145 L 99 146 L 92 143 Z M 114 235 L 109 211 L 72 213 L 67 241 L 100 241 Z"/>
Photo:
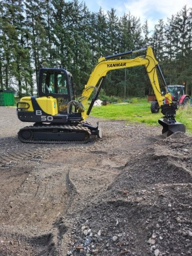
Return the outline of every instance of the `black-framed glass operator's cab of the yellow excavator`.
<path id="1" fill-rule="evenodd" d="M 67 111 L 68 103 L 75 100 L 73 77 L 64 68 L 40 68 L 39 97 L 53 97 L 57 100 L 58 112 Z"/>

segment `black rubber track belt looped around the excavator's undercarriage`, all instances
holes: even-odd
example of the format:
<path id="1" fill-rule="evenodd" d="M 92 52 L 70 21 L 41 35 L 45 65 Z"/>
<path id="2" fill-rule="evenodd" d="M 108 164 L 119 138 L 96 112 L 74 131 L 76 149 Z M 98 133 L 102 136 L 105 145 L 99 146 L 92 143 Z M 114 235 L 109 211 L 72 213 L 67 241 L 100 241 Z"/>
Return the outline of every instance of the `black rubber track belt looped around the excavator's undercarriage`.
<path id="1" fill-rule="evenodd" d="M 87 134 L 87 139 L 86 140 L 34 140 L 34 139 L 29 139 L 26 140 L 24 139 L 21 135 L 20 132 L 23 130 L 30 130 L 31 132 L 33 131 L 38 131 L 40 132 L 41 130 L 45 129 L 63 129 L 65 130 L 70 130 L 70 131 L 83 131 Z M 38 144 L 57 144 L 57 143 L 71 143 L 71 142 L 76 142 L 76 143 L 87 143 L 91 139 L 91 131 L 87 127 L 83 126 L 74 126 L 74 125 L 40 125 L 40 126 L 26 126 L 18 132 L 18 138 L 25 143 L 38 143 Z"/>

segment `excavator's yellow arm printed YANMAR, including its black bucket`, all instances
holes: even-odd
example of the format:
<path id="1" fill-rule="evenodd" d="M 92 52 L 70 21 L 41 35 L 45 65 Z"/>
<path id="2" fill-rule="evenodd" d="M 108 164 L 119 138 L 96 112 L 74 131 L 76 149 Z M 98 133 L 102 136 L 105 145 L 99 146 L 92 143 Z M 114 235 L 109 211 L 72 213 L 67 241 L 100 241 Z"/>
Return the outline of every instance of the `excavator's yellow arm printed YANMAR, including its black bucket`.
<path id="1" fill-rule="evenodd" d="M 145 55 L 136 57 L 134 59 L 119 59 L 120 57 L 130 55 L 136 52 L 146 52 Z M 158 61 L 155 59 L 153 54 L 153 50 L 151 47 L 147 47 L 145 49 L 137 50 L 137 51 L 129 51 L 124 53 L 119 53 L 107 57 L 102 57 L 98 60 L 95 68 L 92 70 L 92 73 L 89 77 L 87 84 L 84 87 L 82 96 L 79 98 L 79 103 L 81 106 L 84 106 L 86 101 L 89 99 L 93 90 L 95 91 L 94 97 L 88 108 L 87 112 L 84 111 L 84 107 L 82 108 L 82 118 L 85 120 L 87 116 L 90 114 L 91 109 L 93 107 L 94 101 L 97 100 L 100 89 L 102 87 L 102 83 L 107 73 L 111 70 L 121 69 L 121 68 L 130 68 L 130 67 L 138 67 L 145 66 L 146 72 L 148 74 L 151 86 L 156 95 L 157 102 L 159 107 L 162 109 L 161 112 L 164 115 L 162 119 L 159 119 L 158 122 L 163 126 L 163 133 L 167 136 L 170 134 L 181 131 L 185 132 L 185 126 L 175 120 L 175 114 L 177 110 L 177 106 L 172 103 L 171 94 L 168 92 L 167 85 L 162 74 L 162 71 L 158 65 Z M 161 80 L 164 84 L 165 94 L 161 92 L 157 70 Z M 168 100 L 168 104 L 164 104 L 164 99 Z"/>

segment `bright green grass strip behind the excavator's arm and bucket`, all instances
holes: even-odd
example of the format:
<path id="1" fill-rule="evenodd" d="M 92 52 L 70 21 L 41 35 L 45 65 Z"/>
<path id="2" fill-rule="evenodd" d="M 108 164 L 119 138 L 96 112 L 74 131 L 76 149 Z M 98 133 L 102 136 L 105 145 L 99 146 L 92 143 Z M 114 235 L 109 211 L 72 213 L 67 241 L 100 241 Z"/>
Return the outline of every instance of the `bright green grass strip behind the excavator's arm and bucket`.
<path id="1" fill-rule="evenodd" d="M 91 116 L 102 117 L 109 120 L 125 120 L 129 122 L 140 122 L 147 125 L 157 126 L 158 119 L 162 117 L 161 112 L 152 114 L 150 103 L 147 99 L 138 99 L 135 103 L 109 104 L 107 106 L 93 107 Z M 186 126 L 188 132 L 192 133 L 192 107 L 180 107 L 177 111 L 176 120 Z"/>

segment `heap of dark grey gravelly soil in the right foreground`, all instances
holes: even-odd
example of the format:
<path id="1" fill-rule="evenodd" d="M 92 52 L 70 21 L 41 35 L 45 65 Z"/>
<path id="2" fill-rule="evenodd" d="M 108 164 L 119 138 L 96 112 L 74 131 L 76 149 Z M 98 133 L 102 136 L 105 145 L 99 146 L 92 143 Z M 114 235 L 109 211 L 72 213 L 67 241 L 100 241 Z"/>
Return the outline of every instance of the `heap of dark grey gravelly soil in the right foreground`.
<path id="1" fill-rule="evenodd" d="M 192 255 L 192 137 L 139 152 L 76 219 L 68 255 Z"/>

